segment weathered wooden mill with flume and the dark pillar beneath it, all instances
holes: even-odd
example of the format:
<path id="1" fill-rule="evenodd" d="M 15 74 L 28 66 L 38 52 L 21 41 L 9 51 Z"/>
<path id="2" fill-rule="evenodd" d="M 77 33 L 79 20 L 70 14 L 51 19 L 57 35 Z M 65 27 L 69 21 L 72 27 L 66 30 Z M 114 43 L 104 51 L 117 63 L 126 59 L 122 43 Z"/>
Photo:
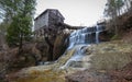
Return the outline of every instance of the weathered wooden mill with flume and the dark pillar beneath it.
<path id="1" fill-rule="evenodd" d="M 54 43 L 57 35 L 65 34 L 65 30 L 77 30 L 80 26 L 70 26 L 64 23 L 65 17 L 56 9 L 47 9 L 34 20 L 34 36 L 44 38 L 48 45 L 47 60 L 53 60 Z"/>

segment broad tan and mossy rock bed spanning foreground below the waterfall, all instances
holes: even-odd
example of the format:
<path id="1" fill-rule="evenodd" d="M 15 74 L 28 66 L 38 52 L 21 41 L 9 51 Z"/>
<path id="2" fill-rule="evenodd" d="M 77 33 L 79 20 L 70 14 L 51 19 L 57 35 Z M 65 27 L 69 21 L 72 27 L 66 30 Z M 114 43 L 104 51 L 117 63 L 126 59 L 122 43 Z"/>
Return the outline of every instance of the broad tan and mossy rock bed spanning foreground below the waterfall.
<path id="1" fill-rule="evenodd" d="M 81 58 L 81 61 L 88 66 L 85 70 L 72 67 L 61 69 L 74 52 L 75 49 L 67 50 L 65 55 L 51 65 L 12 72 L 7 75 L 7 80 L 9 82 L 132 82 L 132 70 L 130 69 L 128 69 L 128 73 L 124 71 L 125 74 L 129 74 L 129 80 L 118 77 L 121 69 L 123 70 L 123 67 L 127 67 L 132 61 L 132 44 L 113 40 L 91 45 L 86 47 L 86 55 Z M 91 56 L 90 59 L 89 56 Z M 117 73 L 118 75 L 116 75 Z M 112 80 L 113 78 L 122 79 L 118 81 Z"/>

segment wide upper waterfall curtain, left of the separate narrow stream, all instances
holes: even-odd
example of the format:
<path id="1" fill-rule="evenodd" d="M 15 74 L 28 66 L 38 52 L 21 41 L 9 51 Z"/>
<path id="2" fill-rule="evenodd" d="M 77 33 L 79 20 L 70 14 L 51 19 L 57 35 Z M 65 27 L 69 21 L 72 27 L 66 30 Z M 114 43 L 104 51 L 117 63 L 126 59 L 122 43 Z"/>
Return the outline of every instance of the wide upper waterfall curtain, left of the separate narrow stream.
<path id="1" fill-rule="evenodd" d="M 69 49 L 73 48 L 75 45 L 80 44 L 91 44 L 95 39 L 92 37 L 92 33 L 96 33 L 96 26 L 95 27 L 85 27 L 82 30 L 75 31 L 69 36 Z"/>

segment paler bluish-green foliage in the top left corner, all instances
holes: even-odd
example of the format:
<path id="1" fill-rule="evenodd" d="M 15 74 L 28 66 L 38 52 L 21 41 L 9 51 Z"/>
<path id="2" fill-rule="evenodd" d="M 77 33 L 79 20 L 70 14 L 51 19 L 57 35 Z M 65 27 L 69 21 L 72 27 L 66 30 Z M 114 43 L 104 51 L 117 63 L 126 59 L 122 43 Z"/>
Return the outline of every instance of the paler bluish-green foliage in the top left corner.
<path id="1" fill-rule="evenodd" d="M 21 0 L 0 0 L 1 17 L 4 22 L 11 22 L 12 17 L 16 14 Z"/>

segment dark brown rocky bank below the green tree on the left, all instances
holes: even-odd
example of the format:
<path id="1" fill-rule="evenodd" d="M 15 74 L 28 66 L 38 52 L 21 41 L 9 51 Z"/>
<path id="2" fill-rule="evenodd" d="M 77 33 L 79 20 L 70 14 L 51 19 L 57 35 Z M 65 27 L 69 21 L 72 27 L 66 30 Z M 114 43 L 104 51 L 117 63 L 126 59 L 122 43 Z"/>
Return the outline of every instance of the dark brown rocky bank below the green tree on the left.
<path id="1" fill-rule="evenodd" d="M 0 51 L 0 80 L 6 79 L 6 74 L 25 67 L 35 66 L 41 60 L 41 51 L 36 44 L 24 44 L 22 54 L 19 48 L 9 48 Z"/>

